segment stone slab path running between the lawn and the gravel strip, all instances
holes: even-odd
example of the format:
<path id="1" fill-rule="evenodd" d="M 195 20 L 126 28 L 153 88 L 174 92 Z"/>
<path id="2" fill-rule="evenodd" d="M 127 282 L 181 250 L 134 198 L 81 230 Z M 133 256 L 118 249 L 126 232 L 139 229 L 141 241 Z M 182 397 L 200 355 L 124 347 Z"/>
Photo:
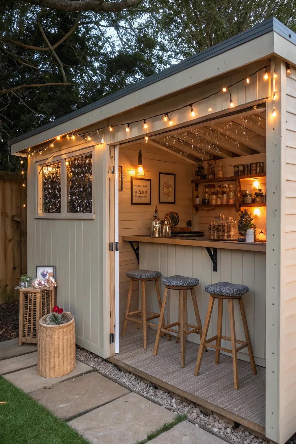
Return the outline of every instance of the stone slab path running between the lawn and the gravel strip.
<path id="1" fill-rule="evenodd" d="M 0 374 L 29 393 L 44 407 L 75 428 L 91 444 L 134 444 L 144 440 L 174 412 L 77 361 L 73 372 L 59 378 L 37 373 L 36 346 L 19 347 L 16 340 L 0 342 Z M 217 436 L 183 421 L 163 432 L 151 444 L 225 444 Z"/>

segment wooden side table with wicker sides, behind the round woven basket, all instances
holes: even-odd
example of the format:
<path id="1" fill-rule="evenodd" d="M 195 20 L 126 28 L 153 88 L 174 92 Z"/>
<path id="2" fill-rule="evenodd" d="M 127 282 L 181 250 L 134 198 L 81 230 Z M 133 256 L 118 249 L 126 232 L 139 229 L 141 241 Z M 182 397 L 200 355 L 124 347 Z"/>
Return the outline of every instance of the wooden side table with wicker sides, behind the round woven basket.
<path id="1" fill-rule="evenodd" d="M 55 303 L 54 288 L 28 287 L 20 289 L 19 345 L 37 344 L 37 326 L 40 317 L 51 313 Z"/>

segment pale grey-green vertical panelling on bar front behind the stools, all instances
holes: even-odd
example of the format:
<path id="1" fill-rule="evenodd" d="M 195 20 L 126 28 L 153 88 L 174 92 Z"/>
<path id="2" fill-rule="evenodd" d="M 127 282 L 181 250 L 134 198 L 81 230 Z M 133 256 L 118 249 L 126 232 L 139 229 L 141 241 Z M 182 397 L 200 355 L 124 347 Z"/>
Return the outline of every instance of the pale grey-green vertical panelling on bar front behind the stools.
<path id="1" fill-rule="evenodd" d="M 197 277 L 199 285 L 195 287 L 197 303 L 202 324 L 205 321 L 209 293 L 205 292 L 205 285 L 219 281 L 229 281 L 235 284 L 248 285 L 250 291 L 243 296 L 245 312 L 248 320 L 250 336 L 253 345 L 254 357 L 257 365 L 265 366 L 265 263 L 266 254 L 258 251 L 217 249 L 217 272 L 213 272 L 211 259 L 205 248 L 200 246 L 184 246 L 172 244 L 157 244 L 140 242 L 140 269 L 160 270 L 162 276 L 181 274 Z M 170 290 L 171 296 L 167 302 L 166 321 L 178 320 L 178 291 Z M 163 295 L 164 285 L 161 283 Z M 155 288 L 146 282 L 147 310 L 158 312 L 158 302 Z M 244 330 L 238 303 L 235 302 L 236 336 L 244 340 Z M 228 307 L 224 303 L 222 335 L 230 336 Z M 157 320 L 155 321 L 157 324 Z M 190 294 L 188 292 L 188 323 L 194 324 L 194 311 Z M 208 337 L 217 333 L 217 301 L 212 314 Z M 191 334 L 189 341 L 199 343 L 199 336 Z M 176 345 L 178 347 L 178 345 Z M 231 343 L 221 341 L 221 346 L 231 348 Z M 249 361 L 247 349 L 237 354 L 240 359 Z M 223 353 L 223 352 L 222 352 Z"/>

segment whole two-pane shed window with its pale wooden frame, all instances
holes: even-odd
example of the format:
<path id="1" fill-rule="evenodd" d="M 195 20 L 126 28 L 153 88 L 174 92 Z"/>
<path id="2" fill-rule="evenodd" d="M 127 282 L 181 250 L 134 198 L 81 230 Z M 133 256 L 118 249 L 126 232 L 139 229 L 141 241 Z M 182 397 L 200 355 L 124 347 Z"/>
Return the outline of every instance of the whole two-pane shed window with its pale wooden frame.
<path id="1" fill-rule="evenodd" d="M 36 159 L 37 218 L 95 218 L 94 159 L 95 147 Z"/>

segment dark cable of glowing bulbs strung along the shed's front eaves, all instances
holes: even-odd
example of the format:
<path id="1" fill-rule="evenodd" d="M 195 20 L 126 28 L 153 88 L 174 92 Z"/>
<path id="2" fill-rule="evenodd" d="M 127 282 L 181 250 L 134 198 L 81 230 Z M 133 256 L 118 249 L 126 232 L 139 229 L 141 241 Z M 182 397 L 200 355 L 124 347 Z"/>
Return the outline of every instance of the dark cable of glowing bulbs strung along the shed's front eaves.
<path id="1" fill-rule="evenodd" d="M 100 127 L 100 128 L 97 128 L 97 129 L 92 130 L 92 131 L 86 131 L 86 132 L 81 132 L 81 133 L 71 132 L 71 133 L 63 135 L 63 136 L 57 136 L 54 139 L 54 141 L 51 142 L 47 147 L 44 147 L 42 149 L 36 149 L 34 151 L 30 151 L 30 148 L 29 148 L 27 156 L 30 157 L 31 155 L 34 155 L 36 152 L 39 152 L 39 154 L 41 154 L 43 151 L 46 151 L 48 148 L 54 147 L 55 143 L 57 141 L 61 141 L 61 140 L 65 139 L 65 138 L 67 138 L 67 139 L 75 139 L 75 137 L 81 137 L 82 139 L 91 140 L 92 137 L 94 137 L 96 134 L 100 134 L 100 131 L 103 131 L 104 129 L 108 129 L 109 131 L 113 131 L 114 128 L 122 127 L 123 126 L 123 127 L 126 128 L 126 132 L 130 132 L 131 125 L 134 124 L 134 123 L 139 123 L 139 122 L 143 122 L 144 128 L 147 129 L 147 127 L 148 127 L 147 120 L 155 119 L 156 117 L 162 117 L 164 121 L 167 121 L 169 123 L 169 125 L 173 125 L 173 121 L 170 119 L 169 114 L 174 113 L 176 111 L 180 111 L 180 110 L 182 110 L 184 108 L 189 107 L 190 108 L 190 113 L 194 117 L 195 116 L 195 112 L 193 110 L 193 105 L 195 105 L 196 103 L 199 103 L 199 102 L 201 102 L 203 100 L 209 99 L 210 97 L 213 97 L 214 95 L 219 94 L 221 91 L 222 92 L 225 92 L 227 90 L 229 91 L 229 106 L 231 108 L 233 108 L 234 104 L 233 104 L 233 99 L 232 99 L 232 95 L 231 95 L 231 92 L 230 92 L 229 88 L 231 88 L 231 87 L 233 87 L 233 86 L 235 86 L 238 83 L 241 83 L 243 81 L 246 81 L 249 84 L 251 77 L 253 77 L 254 75 L 256 75 L 258 72 L 260 72 L 263 69 L 265 69 L 265 74 L 264 74 L 264 79 L 265 79 L 266 75 L 268 76 L 267 68 L 270 67 L 270 66 L 271 65 L 269 64 L 269 65 L 265 65 L 263 67 L 260 67 L 259 69 L 257 69 L 252 74 L 247 75 L 243 79 L 237 80 L 237 82 L 231 83 L 227 87 L 220 88 L 217 91 L 214 91 L 213 93 L 211 93 L 209 95 L 206 95 L 205 97 L 201 97 L 200 99 L 195 100 L 195 102 L 186 103 L 182 107 L 174 108 L 174 109 L 172 109 L 170 111 L 167 111 L 167 112 L 162 112 L 162 113 L 159 113 L 159 114 L 155 114 L 155 115 L 146 117 L 144 119 L 138 119 L 138 120 L 134 120 L 132 122 L 127 122 L 127 123 L 118 123 L 118 124 L 115 124 L 115 125 L 111 125 L 111 124 L 108 123 L 107 125 L 105 125 L 103 127 Z M 275 73 L 273 73 L 273 76 L 275 76 Z M 275 91 L 274 91 L 274 95 L 273 95 L 273 106 L 274 106 L 274 100 L 275 100 Z M 254 109 L 256 109 L 256 108 L 254 107 Z M 209 107 L 209 111 L 212 111 L 211 107 Z M 275 115 L 275 110 L 274 110 L 274 114 L 273 115 Z M 147 135 L 147 133 L 146 133 L 146 135 Z M 101 143 L 104 143 L 104 137 L 102 137 Z"/>

